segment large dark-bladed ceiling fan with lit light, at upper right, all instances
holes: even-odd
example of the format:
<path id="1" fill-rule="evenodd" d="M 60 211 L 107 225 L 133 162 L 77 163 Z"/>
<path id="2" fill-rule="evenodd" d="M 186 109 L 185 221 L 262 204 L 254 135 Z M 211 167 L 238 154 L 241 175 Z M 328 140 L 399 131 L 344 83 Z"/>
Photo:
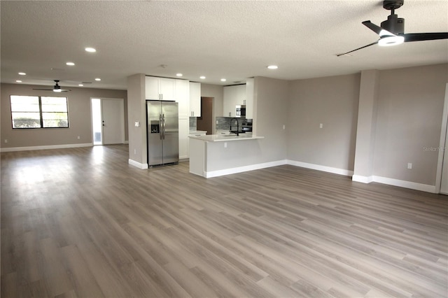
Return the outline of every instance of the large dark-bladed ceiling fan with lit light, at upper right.
<path id="1" fill-rule="evenodd" d="M 354 52 L 356 50 L 360 50 L 363 48 L 367 48 L 370 45 L 378 45 L 381 46 L 389 46 L 389 45 L 399 45 L 400 43 L 408 43 L 410 41 L 433 41 L 436 39 L 447 39 L 448 32 L 435 32 L 435 33 L 407 33 L 405 34 L 405 19 L 398 17 L 395 15 L 395 9 L 400 8 L 404 0 L 384 0 L 383 8 L 387 10 L 391 10 L 391 15 L 387 17 L 387 20 L 381 22 L 381 27 L 373 24 L 370 21 L 364 21 L 363 25 L 365 25 L 370 30 L 374 31 L 379 35 L 379 40 L 374 43 L 370 43 L 368 45 L 364 45 L 363 47 L 357 48 L 355 50 L 351 50 L 349 52 L 344 52 L 342 54 L 337 54 L 336 56 L 342 56 Z"/>

